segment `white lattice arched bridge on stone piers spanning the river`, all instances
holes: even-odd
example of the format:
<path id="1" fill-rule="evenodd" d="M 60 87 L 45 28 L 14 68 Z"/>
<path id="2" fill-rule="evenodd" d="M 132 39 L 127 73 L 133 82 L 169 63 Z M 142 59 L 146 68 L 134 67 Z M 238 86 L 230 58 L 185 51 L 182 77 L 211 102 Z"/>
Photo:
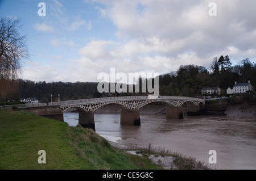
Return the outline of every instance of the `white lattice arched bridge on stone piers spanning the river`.
<path id="1" fill-rule="evenodd" d="M 22 111 L 34 112 L 36 115 L 53 117 L 63 120 L 63 113 L 69 108 L 79 111 L 79 124 L 95 130 L 94 111 L 107 104 L 118 104 L 121 107 L 121 125 L 141 125 L 139 109 L 143 106 L 160 102 L 166 105 L 168 119 L 183 119 L 183 104 L 188 104 L 187 115 L 200 115 L 200 104 L 205 104 L 204 99 L 189 98 L 184 96 L 158 96 L 149 99 L 148 96 L 119 96 L 94 99 L 67 100 L 53 103 L 35 103 L 15 105 Z"/>

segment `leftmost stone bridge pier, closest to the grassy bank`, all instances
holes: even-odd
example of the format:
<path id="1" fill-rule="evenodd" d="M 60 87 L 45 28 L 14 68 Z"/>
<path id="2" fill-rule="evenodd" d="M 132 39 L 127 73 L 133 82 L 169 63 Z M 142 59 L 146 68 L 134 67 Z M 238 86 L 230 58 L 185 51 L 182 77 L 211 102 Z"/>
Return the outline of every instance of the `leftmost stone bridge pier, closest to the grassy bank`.
<path id="1" fill-rule="evenodd" d="M 93 112 L 79 112 L 79 124 L 83 128 L 91 128 L 95 131 L 94 113 Z"/>

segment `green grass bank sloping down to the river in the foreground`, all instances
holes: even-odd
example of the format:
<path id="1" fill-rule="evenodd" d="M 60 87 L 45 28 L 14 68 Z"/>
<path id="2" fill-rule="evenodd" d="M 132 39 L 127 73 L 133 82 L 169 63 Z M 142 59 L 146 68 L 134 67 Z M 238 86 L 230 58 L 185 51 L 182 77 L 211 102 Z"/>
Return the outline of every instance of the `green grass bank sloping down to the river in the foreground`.
<path id="1" fill-rule="evenodd" d="M 39 150 L 46 164 L 38 163 Z M 91 129 L 32 113 L 0 110 L 0 169 L 159 169 L 124 153 Z"/>

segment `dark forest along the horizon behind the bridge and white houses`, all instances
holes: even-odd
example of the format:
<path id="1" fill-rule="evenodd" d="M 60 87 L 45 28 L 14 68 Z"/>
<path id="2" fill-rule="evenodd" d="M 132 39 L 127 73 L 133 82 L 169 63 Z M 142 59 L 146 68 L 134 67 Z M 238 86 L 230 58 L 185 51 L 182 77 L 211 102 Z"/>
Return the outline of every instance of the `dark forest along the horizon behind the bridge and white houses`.
<path id="1" fill-rule="evenodd" d="M 232 66 L 229 56 L 213 58 L 212 64 L 206 68 L 199 65 L 180 65 L 179 69 L 159 75 L 160 95 L 200 96 L 203 87 L 221 88 L 221 94 L 226 94 L 228 87 L 234 82 L 243 83 L 250 80 L 256 87 L 256 64 L 249 58 L 241 60 Z M 138 83 L 142 85 L 142 78 Z M 154 80 L 153 80 L 154 81 Z M 148 92 L 138 93 L 100 93 L 97 91 L 98 82 L 34 82 L 17 79 L 18 89 L 14 94 L 7 94 L 6 100 L 19 101 L 20 98 L 36 98 L 39 102 L 53 102 L 58 100 L 73 100 L 98 98 L 102 96 L 148 95 Z M 124 86 L 124 85 L 123 85 Z M 110 86 L 109 86 L 110 87 Z M 3 102 L 1 97 L 0 102 Z"/>

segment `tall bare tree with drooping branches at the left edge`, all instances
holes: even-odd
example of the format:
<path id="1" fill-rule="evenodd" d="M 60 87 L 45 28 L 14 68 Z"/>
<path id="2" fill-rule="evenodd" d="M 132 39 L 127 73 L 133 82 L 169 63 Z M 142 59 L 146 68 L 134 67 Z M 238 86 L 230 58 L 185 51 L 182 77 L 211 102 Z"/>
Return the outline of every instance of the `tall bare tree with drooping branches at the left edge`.
<path id="1" fill-rule="evenodd" d="M 19 19 L 0 19 L 0 94 L 16 90 L 16 78 L 23 58 L 28 58 L 26 36 L 20 36 L 22 29 Z"/>

